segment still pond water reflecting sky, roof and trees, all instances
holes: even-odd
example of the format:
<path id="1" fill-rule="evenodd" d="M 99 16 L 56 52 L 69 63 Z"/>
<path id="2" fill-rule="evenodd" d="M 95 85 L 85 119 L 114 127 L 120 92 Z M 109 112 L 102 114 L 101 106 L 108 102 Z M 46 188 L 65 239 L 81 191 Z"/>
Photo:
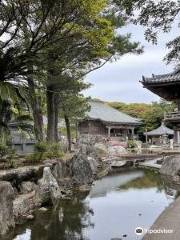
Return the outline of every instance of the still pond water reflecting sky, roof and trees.
<path id="1" fill-rule="evenodd" d="M 135 228 L 149 229 L 175 195 L 152 171 L 107 176 L 96 181 L 89 194 L 61 201 L 56 209 L 37 212 L 34 221 L 16 229 L 13 239 L 142 239 Z"/>

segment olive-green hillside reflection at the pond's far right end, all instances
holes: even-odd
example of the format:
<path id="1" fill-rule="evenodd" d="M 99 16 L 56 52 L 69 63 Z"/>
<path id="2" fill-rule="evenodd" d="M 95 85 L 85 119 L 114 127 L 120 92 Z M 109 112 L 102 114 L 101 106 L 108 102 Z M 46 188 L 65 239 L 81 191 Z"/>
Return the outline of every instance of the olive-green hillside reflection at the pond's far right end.
<path id="1" fill-rule="evenodd" d="M 162 191 L 163 189 L 163 183 L 161 180 L 161 177 L 158 173 L 150 170 L 144 171 L 144 176 L 138 177 L 130 182 L 127 182 L 126 184 L 120 186 L 120 189 L 126 190 L 129 188 L 153 188 L 157 187 L 158 191 Z"/>

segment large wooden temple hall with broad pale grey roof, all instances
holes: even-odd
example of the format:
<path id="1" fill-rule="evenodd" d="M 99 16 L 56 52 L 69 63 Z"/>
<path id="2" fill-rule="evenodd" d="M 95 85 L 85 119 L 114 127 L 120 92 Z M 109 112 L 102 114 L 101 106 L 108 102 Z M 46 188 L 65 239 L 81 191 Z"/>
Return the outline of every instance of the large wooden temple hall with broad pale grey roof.
<path id="1" fill-rule="evenodd" d="M 90 111 L 79 122 L 79 134 L 103 135 L 118 137 L 126 141 L 135 137 L 135 128 L 141 121 L 122 113 L 100 100 L 91 100 Z"/>

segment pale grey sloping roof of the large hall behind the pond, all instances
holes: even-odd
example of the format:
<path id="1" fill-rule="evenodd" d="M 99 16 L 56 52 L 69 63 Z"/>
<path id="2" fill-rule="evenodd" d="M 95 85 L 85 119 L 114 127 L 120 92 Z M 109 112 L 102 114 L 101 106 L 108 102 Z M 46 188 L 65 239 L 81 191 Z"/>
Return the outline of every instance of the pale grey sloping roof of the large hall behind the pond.
<path id="1" fill-rule="evenodd" d="M 122 113 L 102 101 L 91 100 L 89 104 L 91 109 L 87 113 L 88 119 L 101 120 L 103 122 L 114 124 L 124 123 L 139 125 L 141 123 L 140 119 L 133 118 L 125 113 Z"/>

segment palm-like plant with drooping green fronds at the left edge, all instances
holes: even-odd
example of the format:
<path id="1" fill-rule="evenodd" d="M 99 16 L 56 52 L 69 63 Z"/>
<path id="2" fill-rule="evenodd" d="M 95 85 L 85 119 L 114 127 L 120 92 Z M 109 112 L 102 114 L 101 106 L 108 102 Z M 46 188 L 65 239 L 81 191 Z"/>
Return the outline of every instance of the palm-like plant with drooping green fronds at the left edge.
<path id="1" fill-rule="evenodd" d="M 9 82 L 0 85 L 0 142 L 7 144 L 10 140 L 9 124 L 15 121 L 19 130 L 32 132 L 32 118 L 25 98 L 25 87 Z"/>

